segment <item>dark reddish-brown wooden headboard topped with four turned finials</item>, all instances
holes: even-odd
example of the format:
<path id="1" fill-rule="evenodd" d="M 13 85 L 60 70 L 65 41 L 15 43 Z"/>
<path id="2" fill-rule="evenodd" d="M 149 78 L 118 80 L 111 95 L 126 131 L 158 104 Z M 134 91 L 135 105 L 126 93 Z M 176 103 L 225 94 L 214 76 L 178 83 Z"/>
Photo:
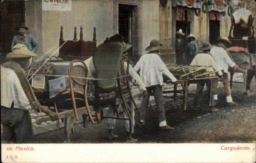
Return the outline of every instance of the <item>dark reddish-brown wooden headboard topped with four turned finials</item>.
<path id="1" fill-rule="evenodd" d="M 67 40 L 67 42 L 60 48 L 59 58 L 64 60 L 80 59 L 85 60 L 91 56 L 96 49 L 96 27 L 93 27 L 93 39 L 92 41 L 83 40 L 83 27 L 80 27 L 80 39 L 76 38 L 76 26 L 74 28 L 74 39 Z M 60 46 L 66 40 L 63 39 L 63 26 L 60 27 Z"/>

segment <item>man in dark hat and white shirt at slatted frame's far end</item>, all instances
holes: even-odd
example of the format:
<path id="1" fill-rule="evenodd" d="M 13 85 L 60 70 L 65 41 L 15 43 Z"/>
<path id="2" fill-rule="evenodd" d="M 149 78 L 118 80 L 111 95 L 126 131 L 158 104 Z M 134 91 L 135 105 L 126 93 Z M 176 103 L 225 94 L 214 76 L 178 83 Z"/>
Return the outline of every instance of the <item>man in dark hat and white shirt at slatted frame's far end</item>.
<path id="1" fill-rule="evenodd" d="M 197 54 L 190 65 L 196 65 L 196 66 L 210 66 L 210 65 L 212 65 L 212 67 L 207 68 L 207 71 L 216 71 L 216 70 L 218 70 L 216 62 L 214 61 L 213 57 L 209 53 L 211 48 L 212 48 L 212 45 L 209 42 L 204 42 L 203 46 L 200 48 L 201 50 L 203 50 L 203 53 Z M 218 70 L 218 71 L 219 71 L 218 72 L 219 76 L 221 76 L 222 72 L 220 70 Z M 218 83 L 218 80 L 214 81 L 214 83 L 215 82 Z M 210 89 L 211 81 L 197 83 L 197 85 L 196 85 L 196 96 L 195 96 L 195 99 L 194 99 L 194 108 L 198 108 L 200 106 L 200 100 L 202 99 L 202 92 L 203 92 L 205 84 L 209 88 L 208 90 L 211 90 Z M 219 111 L 219 109 L 214 108 L 214 106 L 215 106 L 215 104 L 214 104 L 214 91 L 215 90 L 212 89 L 212 97 L 210 99 L 210 110 L 211 111 Z"/>

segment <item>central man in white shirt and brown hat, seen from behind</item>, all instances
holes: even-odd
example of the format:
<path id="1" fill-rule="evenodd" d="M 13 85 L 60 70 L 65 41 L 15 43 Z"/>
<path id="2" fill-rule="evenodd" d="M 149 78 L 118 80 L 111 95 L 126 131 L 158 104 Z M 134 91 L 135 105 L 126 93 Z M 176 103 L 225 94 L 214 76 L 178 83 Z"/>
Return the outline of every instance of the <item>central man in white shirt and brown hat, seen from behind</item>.
<path id="1" fill-rule="evenodd" d="M 168 126 L 165 119 L 164 98 L 162 92 L 162 74 L 170 78 L 172 82 L 175 82 L 177 79 L 172 75 L 172 73 L 170 73 L 170 71 L 167 69 L 164 62 L 158 55 L 161 48 L 163 48 L 163 45 L 159 44 L 159 41 L 152 40 L 150 42 L 150 46 L 145 49 L 146 51 L 149 51 L 149 53 L 142 55 L 138 63 L 134 66 L 135 71 L 140 70 L 140 78 L 146 85 L 148 92 L 148 95 L 146 95 L 146 97 L 143 97 L 141 102 L 140 111 L 142 115 L 139 116 L 139 125 L 144 124 L 150 93 L 153 92 L 156 101 L 160 129 L 173 130 L 174 128 Z"/>

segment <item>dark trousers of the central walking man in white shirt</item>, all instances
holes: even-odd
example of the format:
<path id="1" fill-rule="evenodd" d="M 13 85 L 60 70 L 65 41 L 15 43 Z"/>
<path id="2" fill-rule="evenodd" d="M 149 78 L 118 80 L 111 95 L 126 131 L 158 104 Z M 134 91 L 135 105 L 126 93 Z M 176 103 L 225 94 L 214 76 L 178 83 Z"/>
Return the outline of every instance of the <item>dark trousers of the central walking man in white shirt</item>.
<path id="1" fill-rule="evenodd" d="M 145 120 L 146 110 L 148 108 L 148 103 L 149 103 L 149 97 L 150 97 L 150 94 L 153 93 L 156 101 L 158 122 L 165 121 L 164 97 L 163 97 L 162 85 L 158 84 L 158 85 L 153 85 L 146 88 L 148 91 L 148 95 L 146 97 L 143 97 L 142 99 L 142 102 L 140 105 L 140 111 L 142 115 L 139 115 L 139 120 L 140 121 Z"/>

